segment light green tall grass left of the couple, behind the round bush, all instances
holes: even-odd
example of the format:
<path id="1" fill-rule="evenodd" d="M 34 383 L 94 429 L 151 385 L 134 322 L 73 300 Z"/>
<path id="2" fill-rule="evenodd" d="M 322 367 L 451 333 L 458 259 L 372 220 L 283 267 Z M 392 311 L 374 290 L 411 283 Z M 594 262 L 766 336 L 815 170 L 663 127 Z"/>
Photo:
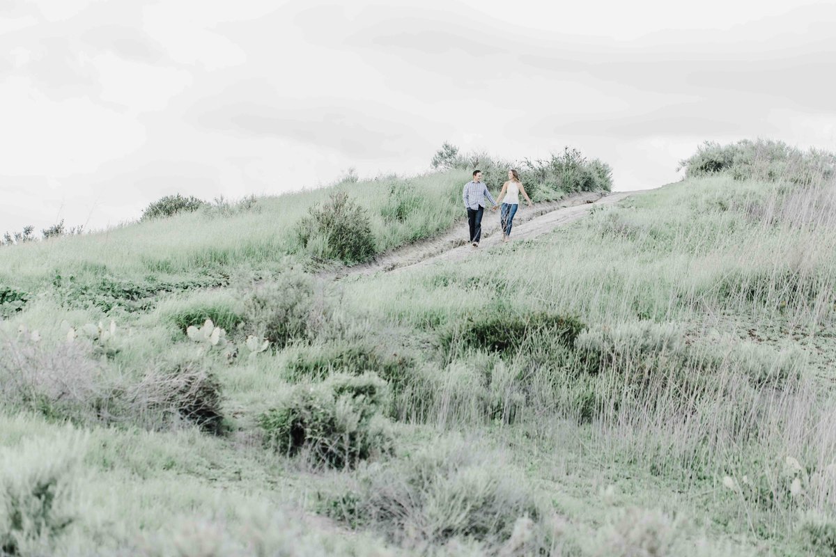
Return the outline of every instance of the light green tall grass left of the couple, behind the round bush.
<path id="1" fill-rule="evenodd" d="M 102 276 L 140 282 L 149 275 L 184 278 L 247 267 L 280 268 L 282 256 L 301 249 L 300 220 L 334 192 L 344 192 L 368 210 L 377 249 L 386 251 L 436 234 L 461 218 L 461 185 L 467 180 L 469 174 L 459 170 L 409 180 L 344 182 L 259 199 L 252 210 L 232 211 L 226 218 L 195 211 L 93 234 L 26 242 L 0 251 L 0 285 L 42 291 L 57 275 L 73 276 L 76 282 Z M 399 202 L 401 191 L 415 201 L 393 225 L 390 206 Z"/>

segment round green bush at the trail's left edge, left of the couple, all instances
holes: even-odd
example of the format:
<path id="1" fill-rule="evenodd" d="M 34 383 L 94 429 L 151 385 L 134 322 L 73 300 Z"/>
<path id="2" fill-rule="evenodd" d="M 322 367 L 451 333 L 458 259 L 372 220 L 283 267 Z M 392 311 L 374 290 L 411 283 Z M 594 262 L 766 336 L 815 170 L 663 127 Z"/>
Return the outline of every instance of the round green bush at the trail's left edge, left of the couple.
<path id="1" fill-rule="evenodd" d="M 337 259 L 347 265 L 375 256 L 375 236 L 368 211 L 349 200 L 344 191 L 334 193 L 323 205 L 311 207 L 299 222 L 300 245 L 314 257 Z"/>

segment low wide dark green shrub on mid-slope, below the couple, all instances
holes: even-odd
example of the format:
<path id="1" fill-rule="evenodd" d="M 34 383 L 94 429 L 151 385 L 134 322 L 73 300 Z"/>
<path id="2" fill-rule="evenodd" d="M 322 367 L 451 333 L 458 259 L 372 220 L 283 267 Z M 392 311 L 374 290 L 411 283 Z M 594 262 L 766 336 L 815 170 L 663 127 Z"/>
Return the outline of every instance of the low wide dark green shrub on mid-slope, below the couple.
<path id="1" fill-rule="evenodd" d="M 461 345 L 491 352 L 514 352 L 534 337 L 544 336 L 571 346 L 585 327 L 575 316 L 491 312 L 468 316 L 466 322 L 442 334 L 442 343 L 447 347 Z"/>

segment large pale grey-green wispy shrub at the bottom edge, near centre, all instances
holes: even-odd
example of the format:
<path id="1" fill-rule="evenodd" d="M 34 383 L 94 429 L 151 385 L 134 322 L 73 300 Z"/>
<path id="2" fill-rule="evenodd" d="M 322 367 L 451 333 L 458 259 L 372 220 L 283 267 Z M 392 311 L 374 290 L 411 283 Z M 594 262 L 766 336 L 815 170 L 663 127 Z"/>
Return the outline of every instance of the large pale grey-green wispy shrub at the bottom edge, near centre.
<path id="1" fill-rule="evenodd" d="M 408 549 L 454 540 L 477 554 L 548 554 L 553 516 L 524 475 L 469 443 L 432 443 L 409 458 L 361 468 L 347 492 L 320 494 L 321 508 L 351 525 L 370 524 Z"/>

